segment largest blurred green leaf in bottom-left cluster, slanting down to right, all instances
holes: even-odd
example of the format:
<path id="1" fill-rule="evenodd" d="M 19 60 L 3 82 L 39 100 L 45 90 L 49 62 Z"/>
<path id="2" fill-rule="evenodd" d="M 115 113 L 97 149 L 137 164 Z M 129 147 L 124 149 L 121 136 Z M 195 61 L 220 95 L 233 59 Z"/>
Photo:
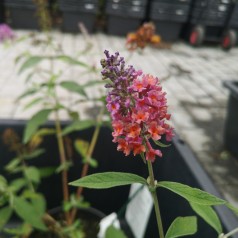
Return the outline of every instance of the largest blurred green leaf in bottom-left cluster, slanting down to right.
<path id="1" fill-rule="evenodd" d="M 39 230 L 46 230 L 42 221 L 42 214 L 39 213 L 39 211 L 29 201 L 20 197 L 15 197 L 14 210 L 25 222 Z"/>

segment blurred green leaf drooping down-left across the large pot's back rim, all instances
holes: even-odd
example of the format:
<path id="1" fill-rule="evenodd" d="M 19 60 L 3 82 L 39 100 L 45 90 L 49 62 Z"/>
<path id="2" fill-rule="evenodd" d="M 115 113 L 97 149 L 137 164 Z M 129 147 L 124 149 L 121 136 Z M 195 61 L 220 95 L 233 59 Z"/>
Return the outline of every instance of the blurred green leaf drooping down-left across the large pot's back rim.
<path id="1" fill-rule="evenodd" d="M 44 124 L 49 114 L 52 112 L 52 109 L 43 109 L 39 112 L 37 112 L 27 123 L 26 128 L 24 130 L 24 136 L 23 136 L 23 143 L 26 144 L 29 142 L 31 137 L 36 133 L 39 126 Z"/>

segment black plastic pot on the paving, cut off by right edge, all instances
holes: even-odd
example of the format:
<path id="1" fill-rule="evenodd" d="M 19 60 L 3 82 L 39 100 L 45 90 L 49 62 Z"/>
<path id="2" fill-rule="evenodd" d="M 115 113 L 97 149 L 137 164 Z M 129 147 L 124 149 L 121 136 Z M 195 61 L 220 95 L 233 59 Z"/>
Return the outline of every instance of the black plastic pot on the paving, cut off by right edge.
<path id="1" fill-rule="evenodd" d="M 224 127 L 224 146 L 238 159 L 238 81 L 226 81 L 230 95 Z"/>

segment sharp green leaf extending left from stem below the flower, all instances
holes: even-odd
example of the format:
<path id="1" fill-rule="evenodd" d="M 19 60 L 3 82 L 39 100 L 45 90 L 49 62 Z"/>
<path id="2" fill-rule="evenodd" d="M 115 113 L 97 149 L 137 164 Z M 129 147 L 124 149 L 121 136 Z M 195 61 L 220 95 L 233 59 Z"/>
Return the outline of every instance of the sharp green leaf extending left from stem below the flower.
<path id="1" fill-rule="evenodd" d="M 92 174 L 69 184 L 78 187 L 101 189 L 129 185 L 133 183 L 147 184 L 144 178 L 136 174 L 121 172 L 105 172 Z"/>

